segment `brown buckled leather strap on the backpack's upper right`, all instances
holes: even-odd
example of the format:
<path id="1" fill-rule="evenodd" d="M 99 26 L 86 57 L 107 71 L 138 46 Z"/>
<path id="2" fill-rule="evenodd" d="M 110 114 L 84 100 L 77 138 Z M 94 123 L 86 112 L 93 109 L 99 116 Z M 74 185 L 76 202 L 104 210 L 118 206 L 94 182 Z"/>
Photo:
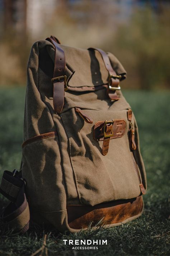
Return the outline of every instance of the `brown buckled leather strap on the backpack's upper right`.
<path id="1" fill-rule="evenodd" d="M 114 71 L 114 69 L 112 68 L 112 65 L 110 63 L 110 59 L 109 59 L 108 55 L 103 50 L 101 50 L 99 48 L 88 48 L 88 50 L 97 50 L 101 54 L 101 57 L 102 57 L 103 62 L 105 64 L 105 67 L 106 67 L 106 69 L 109 73 L 109 81 L 108 81 L 109 86 L 119 87 L 119 79 L 121 78 L 121 76 L 118 76 L 116 74 L 116 72 Z M 118 100 L 119 99 L 116 91 L 115 90 L 110 90 L 109 87 L 108 87 L 108 90 L 107 90 L 107 95 L 112 100 Z"/>

